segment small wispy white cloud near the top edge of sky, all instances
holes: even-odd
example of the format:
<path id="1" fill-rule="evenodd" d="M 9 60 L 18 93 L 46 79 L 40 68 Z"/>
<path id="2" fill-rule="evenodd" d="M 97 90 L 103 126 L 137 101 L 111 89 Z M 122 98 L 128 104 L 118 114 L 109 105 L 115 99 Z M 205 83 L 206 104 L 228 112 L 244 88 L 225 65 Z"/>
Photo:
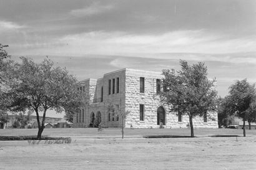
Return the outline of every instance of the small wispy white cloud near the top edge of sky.
<path id="1" fill-rule="evenodd" d="M 82 9 L 74 9 L 70 12 L 70 14 L 76 17 L 92 16 L 95 14 L 100 14 L 102 12 L 109 11 L 112 8 L 112 5 L 103 6 L 99 4 L 99 2 L 94 2 L 91 4 L 91 6 L 86 6 Z"/>

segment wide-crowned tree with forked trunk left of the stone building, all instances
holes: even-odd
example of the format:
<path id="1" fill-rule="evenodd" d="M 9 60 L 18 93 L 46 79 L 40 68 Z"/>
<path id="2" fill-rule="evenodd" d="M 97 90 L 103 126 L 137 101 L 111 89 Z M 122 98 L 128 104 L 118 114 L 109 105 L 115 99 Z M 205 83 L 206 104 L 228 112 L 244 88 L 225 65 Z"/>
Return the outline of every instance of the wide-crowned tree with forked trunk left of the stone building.
<path id="1" fill-rule="evenodd" d="M 54 68 L 53 62 L 47 58 L 40 64 L 26 57 L 21 57 L 21 60 L 21 64 L 16 64 L 13 71 L 17 81 L 7 93 L 12 99 L 9 107 L 35 111 L 38 124 L 37 139 L 41 139 L 47 110 L 60 113 L 66 106 L 71 105 L 71 102 L 76 101 L 79 105 L 77 80 L 69 75 L 66 68 Z M 42 120 L 39 119 L 39 111 L 43 112 Z"/>

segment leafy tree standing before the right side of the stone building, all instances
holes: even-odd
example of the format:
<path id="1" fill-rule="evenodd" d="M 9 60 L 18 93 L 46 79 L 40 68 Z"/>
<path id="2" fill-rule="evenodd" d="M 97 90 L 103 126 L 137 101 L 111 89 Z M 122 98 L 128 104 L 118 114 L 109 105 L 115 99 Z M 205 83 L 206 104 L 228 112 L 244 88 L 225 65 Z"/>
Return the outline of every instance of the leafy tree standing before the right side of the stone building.
<path id="1" fill-rule="evenodd" d="M 207 78 L 204 63 L 189 65 L 180 60 L 181 70 L 163 70 L 161 101 L 170 106 L 170 111 L 189 116 L 191 137 L 194 137 L 193 118 L 216 109 L 217 91 L 214 80 Z"/>

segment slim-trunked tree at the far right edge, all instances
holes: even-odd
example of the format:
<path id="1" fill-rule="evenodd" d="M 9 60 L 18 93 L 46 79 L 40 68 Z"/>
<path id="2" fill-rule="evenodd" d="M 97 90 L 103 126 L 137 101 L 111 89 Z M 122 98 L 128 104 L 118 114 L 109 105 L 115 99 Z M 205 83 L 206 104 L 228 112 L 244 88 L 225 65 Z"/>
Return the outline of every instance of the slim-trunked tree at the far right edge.
<path id="1" fill-rule="evenodd" d="M 254 117 L 254 102 L 255 102 L 255 85 L 250 85 L 247 79 L 237 80 L 233 85 L 229 87 L 229 112 L 235 114 L 243 119 L 244 137 L 245 135 L 245 121 Z"/>

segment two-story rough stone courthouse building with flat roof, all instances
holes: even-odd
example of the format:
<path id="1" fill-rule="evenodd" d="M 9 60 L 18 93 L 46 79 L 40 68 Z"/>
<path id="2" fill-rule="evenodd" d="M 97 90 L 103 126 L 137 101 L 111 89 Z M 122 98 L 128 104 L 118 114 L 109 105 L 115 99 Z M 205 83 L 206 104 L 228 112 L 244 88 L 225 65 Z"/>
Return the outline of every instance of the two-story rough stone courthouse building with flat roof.
<path id="1" fill-rule="evenodd" d="M 160 103 L 160 72 L 124 68 L 106 73 L 103 78 L 88 78 L 79 82 L 78 90 L 87 96 L 84 107 L 74 115 L 73 127 L 120 127 L 121 118 L 109 110 L 116 105 L 122 111 L 130 111 L 125 120 L 126 127 L 134 128 L 187 128 L 189 117 L 170 113 Z M 217 113 L 194 118 L 195 128 L 218 128 Z"/>

